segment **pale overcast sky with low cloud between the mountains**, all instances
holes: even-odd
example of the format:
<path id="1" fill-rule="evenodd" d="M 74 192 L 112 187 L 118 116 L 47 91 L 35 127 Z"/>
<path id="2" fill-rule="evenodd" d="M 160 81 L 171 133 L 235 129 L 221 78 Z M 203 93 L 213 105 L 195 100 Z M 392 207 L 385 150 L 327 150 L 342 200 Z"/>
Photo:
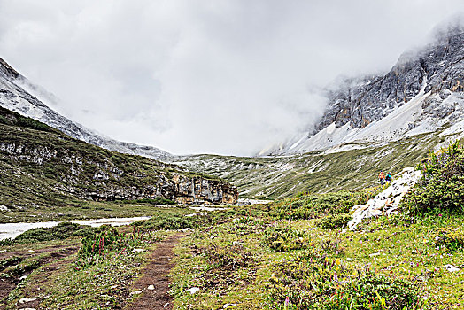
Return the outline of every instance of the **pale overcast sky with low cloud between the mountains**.
<path id="1" fill-rule="evenodd" d="M 0 0 L 0 57 L 105 136 L 251 155 L 321 115 L 317 89 L 388 71 L 462 0 Z"/>

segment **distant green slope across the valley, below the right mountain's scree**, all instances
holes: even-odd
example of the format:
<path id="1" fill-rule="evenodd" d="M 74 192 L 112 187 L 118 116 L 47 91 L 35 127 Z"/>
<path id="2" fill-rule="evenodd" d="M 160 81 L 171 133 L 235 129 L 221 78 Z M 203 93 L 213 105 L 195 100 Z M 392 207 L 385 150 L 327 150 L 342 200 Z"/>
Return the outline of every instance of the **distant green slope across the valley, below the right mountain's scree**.
<path id="1" fill-rule="evenodd" d="M 217 175 L 238 187 L 241 197 L 290 198 L 298 192 L 329 192 L 376 185 L 380 170 L 399 173 L 415 166 L 430 146 L 452 136 L 424 134 L 382 147 L 276 158 L 197 155 L 178 161 L 194 171 Z"/>

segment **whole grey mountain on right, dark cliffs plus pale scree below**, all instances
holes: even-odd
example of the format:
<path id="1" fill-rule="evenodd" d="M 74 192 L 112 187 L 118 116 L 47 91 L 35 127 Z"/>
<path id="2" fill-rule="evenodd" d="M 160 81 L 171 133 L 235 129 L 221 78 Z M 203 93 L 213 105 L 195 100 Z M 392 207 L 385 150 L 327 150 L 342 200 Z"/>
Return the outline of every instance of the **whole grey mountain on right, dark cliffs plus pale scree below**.
<path id="1" fill-rule="evenodd" d="M 329 107 L 313 130 L 271 153 L 344 151 L 451 126 L 464 130 L 464 27 L 437 32 L 435 43 L 403 54 L 383 76 L 347 79 L 327 91 Z"/>

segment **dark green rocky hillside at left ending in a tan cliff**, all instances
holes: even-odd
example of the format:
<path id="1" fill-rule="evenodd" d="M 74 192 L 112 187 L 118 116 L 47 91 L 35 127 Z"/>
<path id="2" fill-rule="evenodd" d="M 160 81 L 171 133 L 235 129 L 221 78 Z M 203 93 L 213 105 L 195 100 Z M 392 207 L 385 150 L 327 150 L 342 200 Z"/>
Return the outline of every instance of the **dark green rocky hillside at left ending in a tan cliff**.
<path id="1" fill-rule="evenodd" d="M 168 198 L 235 204 L 235 186 L 154 159 L 107 151 L 0 108 L 0 204 L 6 208 Z"/>

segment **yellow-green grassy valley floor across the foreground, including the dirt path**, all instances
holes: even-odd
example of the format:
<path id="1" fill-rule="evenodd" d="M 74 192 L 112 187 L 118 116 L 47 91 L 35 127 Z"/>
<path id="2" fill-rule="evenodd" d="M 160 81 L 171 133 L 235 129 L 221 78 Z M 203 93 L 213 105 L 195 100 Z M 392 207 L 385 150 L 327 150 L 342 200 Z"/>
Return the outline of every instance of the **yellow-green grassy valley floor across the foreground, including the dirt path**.
<path id="1" fill-rule="evenodd" d="M 110 235 L 96 235 L 87 248 L 96 260 L 82 250 L 87 237 L 4 244 L 0 309 L 344 309 L 350 283 L 373 297 L 361 309 L 396 308 L 382 306 L 391 291 L 416 298 L 407 309 L 464 308 L 464 253 L 435 239 L 440 229 L 462 232 L 464 216 L 385 217 L 343 234 L 322 209 L 298 220 L 288 206 L 305 199 L 208 214 L 160 209 L 120 228 L 115 242 L 128 245 L 112 252 L 98 253 Z M 369 277 L 391 291 L 362 286 Z"/>

